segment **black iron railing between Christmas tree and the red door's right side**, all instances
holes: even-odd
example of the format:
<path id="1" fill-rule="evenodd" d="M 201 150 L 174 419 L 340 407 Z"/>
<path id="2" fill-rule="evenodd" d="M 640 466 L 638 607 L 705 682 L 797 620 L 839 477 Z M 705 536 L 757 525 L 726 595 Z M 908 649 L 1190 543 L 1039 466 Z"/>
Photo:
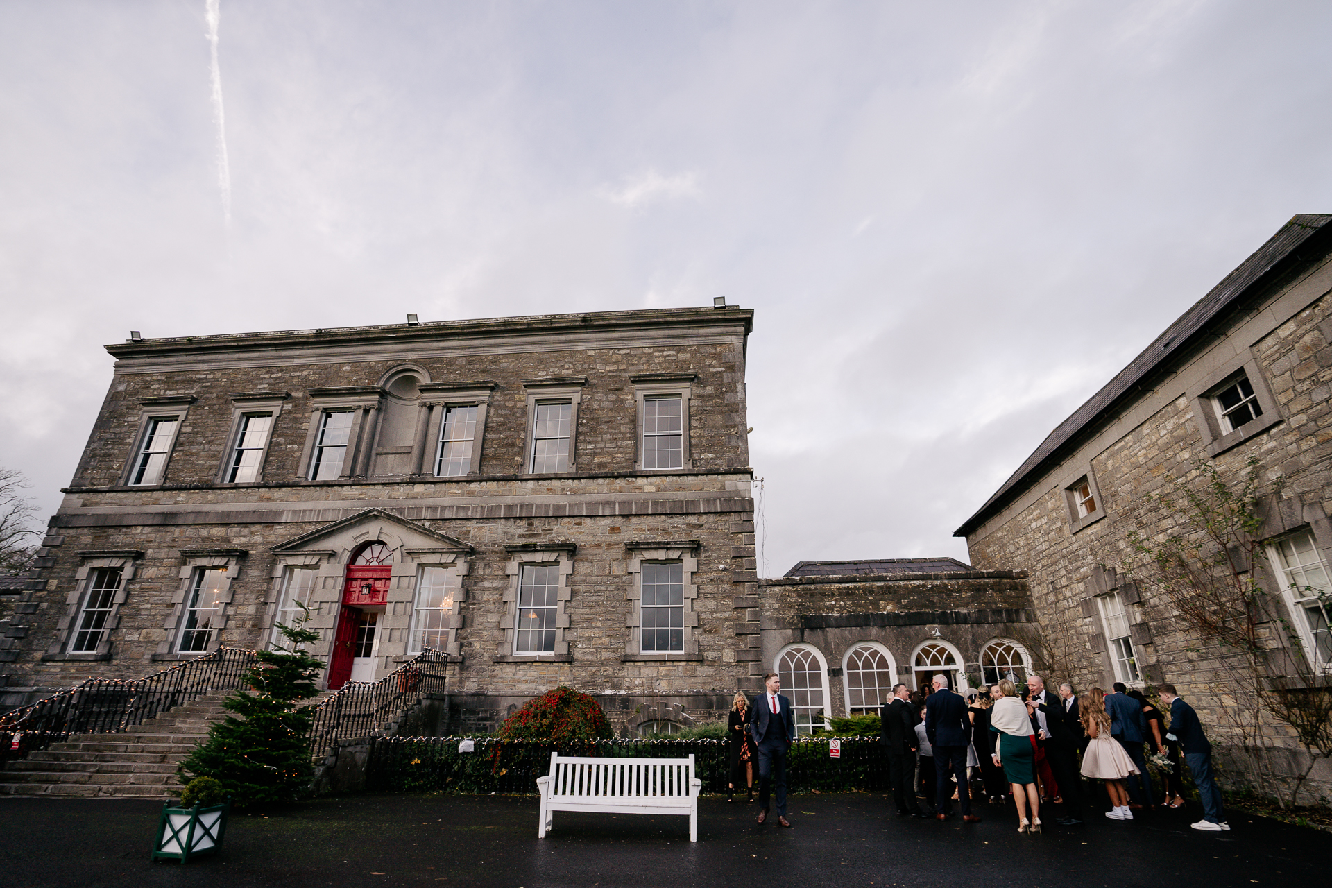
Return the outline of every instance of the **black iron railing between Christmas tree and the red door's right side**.
<path id="1" fill-rule="evenodd" d="M 341 738 L 372 736 L 428 694 L 444 694 L 449 655 L 426 650 L 378 682 L 348 682 L 314 708 L 310 755 L 318 760 Z"/>

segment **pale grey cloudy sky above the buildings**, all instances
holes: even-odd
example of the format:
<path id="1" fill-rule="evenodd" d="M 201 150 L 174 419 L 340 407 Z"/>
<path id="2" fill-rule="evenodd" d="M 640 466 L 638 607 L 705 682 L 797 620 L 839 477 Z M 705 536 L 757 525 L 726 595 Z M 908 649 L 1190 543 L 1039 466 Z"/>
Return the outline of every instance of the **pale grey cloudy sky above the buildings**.
<path id="1" fill-rule="evenodd" d="M 0 466 L 43 513 L 131 329 L 726 296 L 765 574 L 966 558 L 1056 422 L 1332 210 L 1325 3 L 221 0 L 216 35 L 214 83 L 205 0 L 0 3 Z"/>

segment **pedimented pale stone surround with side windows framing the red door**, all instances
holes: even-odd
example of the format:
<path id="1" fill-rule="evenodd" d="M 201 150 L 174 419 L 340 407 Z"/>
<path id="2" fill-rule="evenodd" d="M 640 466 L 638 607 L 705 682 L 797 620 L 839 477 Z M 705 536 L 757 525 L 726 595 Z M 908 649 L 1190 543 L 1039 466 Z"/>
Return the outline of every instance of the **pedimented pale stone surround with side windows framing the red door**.
<path id="1" fill-rule="evenodd" d="M 366 509 L 272 547 L 276 558 L 265 640 L 272 639 L 276 620 L 292 618 L 290 598 L 298 595 L 316 610 L 309 627 L 320 632 L 321 640 L 310 652 L 328 656 L 342 612 L 348 564 L 365 543 L 376 541 L 389 549 L 392 566 L 378 618 L 380 674 L 392 671 L 422 646 L 457 654 L 466 596 L 462 578 L 468 575 L 472 546 L 382 509 Z M 422 587 L 428 594 L 418 595 Z M 425 606 L 432 610 L 422 610 Z"/>

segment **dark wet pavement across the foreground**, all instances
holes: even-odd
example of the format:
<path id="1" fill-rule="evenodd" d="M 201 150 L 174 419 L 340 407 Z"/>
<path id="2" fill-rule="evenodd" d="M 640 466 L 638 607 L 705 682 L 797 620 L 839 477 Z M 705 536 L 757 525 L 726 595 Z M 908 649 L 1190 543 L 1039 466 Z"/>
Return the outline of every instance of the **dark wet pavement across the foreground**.
<path id="1" fill-rule="evenodd" d="M 1241 813 L 1204 833 L 1183 811 L 1020 836 L 1011 808 L 984 821 L 898 817 L 882 793 L 793 797 L 791 829 L 757 804 L 706 797 L 687 817 L 557 813 L 537 839 L 534 797 L 364 795 L 233 815 L 224 851 L 149 863 L 161 804 L 0 799 L 5 888 L 157 885 L 1207 885 L 1332 884 L 1332 835 Z M 1058 815 L 1058 805 L 1051 815 Z"/>

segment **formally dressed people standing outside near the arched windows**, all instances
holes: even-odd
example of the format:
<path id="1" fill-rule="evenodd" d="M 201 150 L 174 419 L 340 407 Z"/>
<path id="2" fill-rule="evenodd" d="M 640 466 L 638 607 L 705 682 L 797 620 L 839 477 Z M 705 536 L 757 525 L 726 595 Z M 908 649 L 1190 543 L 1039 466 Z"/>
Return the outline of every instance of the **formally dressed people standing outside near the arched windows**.
<path id="1" fill-rule="evenodd" d="M 730 783 L 726 800 L 746 787 L 754 799 L 758 777 L 759 815 L 765 823 L 770 800 L 777 796 L 777 825 L 786 817 L 786 754 L 795 742 L 795 716 L 789 698 L 781 694 L 781 676 L 769 672 L 765 691 L 753 700 L 737 694 L 727 736 Z M 1166 714 L 1142 691 L 1115 683 L 1108 694 L 1094 687 L 1075 695 L 1071 684 L 1056 694 L 1039 675 L 1026 684 L 1004 679 L 968 690 L 948 687 L 947 675 L 935 675 L 932 692 L 912 692 L 906 684 L 892 688 L 892 698 L 879 711 L 882 743 L 888 754 L 888 775 L 898 815 L 947 820 L 958 801 L 963 823 L 980 823 L 971 808 L 971 777 L 982 797 L 1006 804 L 1012 797 L 1018 832 L 1039 833 L 1044 825 L 1040 805 L 1059 804 L 1055 823 L 1083 823 L 1083 777 L 1102 780 L 1110 796 L 1111 820 L 1132 820 L 1135 809 L 1155 809 L 1156 800 L 1147 750 L 1164 776 L 1169 808 L 1184 807 L 1181 766 L 1193 775 L 1203 804 L 1195 829 L 1229 829 L 1221 793 L 1212 775 L 1212 747 L 1197 714 L 1179 698 L 1172 684 L 1156 688 Z M 934 813 L 923 809 L 918 791 Z"/>

